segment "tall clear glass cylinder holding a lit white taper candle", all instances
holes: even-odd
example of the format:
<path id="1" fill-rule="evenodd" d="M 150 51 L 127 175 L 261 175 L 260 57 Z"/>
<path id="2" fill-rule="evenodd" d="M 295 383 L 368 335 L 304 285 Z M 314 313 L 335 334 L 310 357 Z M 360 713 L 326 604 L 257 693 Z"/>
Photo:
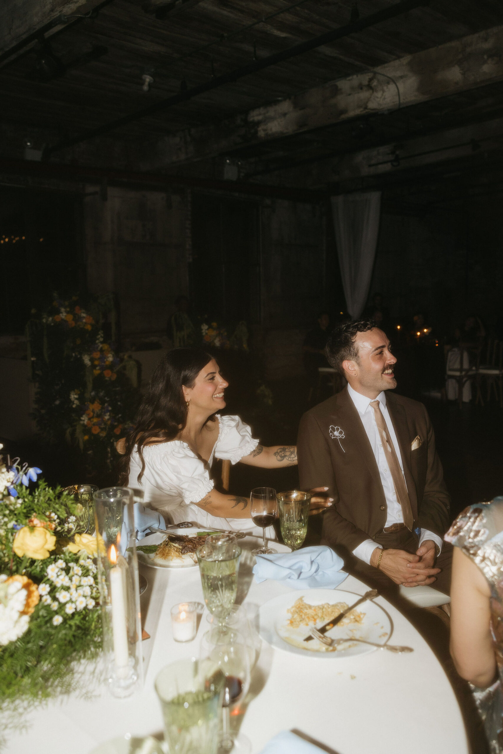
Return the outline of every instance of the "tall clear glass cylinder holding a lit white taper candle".
<path id="1" fill-rule="evenodd" d="M 143 683 L 133 493 L 100 489 L 94 504 L 106 674 L 112 695 L 127 697 Z"/>

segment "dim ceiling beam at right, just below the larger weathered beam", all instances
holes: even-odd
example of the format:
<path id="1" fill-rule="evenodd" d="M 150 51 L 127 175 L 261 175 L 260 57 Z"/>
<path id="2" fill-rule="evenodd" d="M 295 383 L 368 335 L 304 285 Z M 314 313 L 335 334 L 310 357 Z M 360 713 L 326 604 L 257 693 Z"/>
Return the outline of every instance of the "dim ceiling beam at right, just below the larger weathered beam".
<path id="1" fill-rule="evenodd" d="M 290 185 L 300 182 L 306 186 L 327 186 L 476 154 L 487 155 L 496 149 L 503 149 L 503 118 L 363 149 L 339 158 L 321 160 L 311 168 L 305 165 L 290 170 L 285 168 L 278 170 L 275 179 Z"/>

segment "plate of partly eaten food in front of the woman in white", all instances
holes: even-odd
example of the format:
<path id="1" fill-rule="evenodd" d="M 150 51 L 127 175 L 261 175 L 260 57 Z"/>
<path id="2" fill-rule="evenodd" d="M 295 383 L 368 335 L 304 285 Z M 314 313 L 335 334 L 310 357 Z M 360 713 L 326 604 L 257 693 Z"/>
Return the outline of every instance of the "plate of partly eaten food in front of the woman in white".
<path id="1" fill-rule="evenodd" d="M 209 529 L 170 529 L 169 534 L 154 532 L 136 541 L 140 562 L 152 568 L 195 568 L 195 551 L 204 544 Z"/>

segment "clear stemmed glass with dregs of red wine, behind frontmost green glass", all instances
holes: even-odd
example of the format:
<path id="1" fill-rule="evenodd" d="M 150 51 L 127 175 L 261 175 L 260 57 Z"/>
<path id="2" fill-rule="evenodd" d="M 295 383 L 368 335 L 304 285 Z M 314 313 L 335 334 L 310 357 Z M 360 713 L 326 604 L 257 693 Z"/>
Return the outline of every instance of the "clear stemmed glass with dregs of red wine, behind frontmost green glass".
<path id="1" fill-rule="evenodd" d="M 250 688 L 250 653 L 246 639 L 229 627 L 210 629 L 201 639 L 201 658 L 206 657 L 215 670 L 225 675 L 219 754 L 249 752 L 250 741 L 243 735 L 236 736 L 230 725 L 230 707 L 244 700 Z"/>

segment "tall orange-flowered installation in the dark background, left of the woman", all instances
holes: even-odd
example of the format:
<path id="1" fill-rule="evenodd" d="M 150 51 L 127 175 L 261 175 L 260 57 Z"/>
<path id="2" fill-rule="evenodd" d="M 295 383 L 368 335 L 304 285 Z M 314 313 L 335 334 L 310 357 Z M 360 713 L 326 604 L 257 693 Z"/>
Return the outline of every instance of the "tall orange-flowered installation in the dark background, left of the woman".
<path id="1" fill-rule="evenodd" d="M 136 363 L 114 351 L 112 298 L 88 308 L 77 296 L 56 298 L 42 314 L 32 312 L 27 334 L 38 430 L 49 442 L 80 449 L 89 469 L 110 467 L 140 400 Z"/>

